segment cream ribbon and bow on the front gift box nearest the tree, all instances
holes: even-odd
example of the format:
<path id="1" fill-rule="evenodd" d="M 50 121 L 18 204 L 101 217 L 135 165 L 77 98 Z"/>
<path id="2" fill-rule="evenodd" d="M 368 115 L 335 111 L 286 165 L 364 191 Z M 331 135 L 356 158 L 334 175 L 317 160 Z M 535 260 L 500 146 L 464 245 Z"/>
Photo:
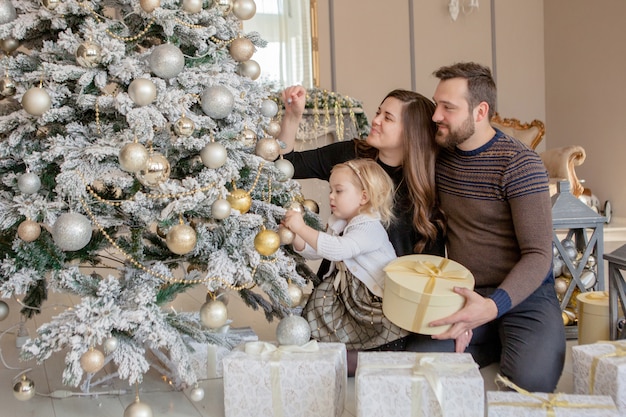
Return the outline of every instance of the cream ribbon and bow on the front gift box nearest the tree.
<path id="1" fill-rule="evenodd" d="M 280 395 L 280 359 L 283 353 L 313 353 L 319 351 L 316 340 L 311 340 L 302 346 L 276 346 L 267 342 L 247 342 L 244 352 L 250 355 L 261 356 L 270 361 L 270 383 L 272 387 L 272 410 L 274 417 L 283 417 L 283 401 Z"/>

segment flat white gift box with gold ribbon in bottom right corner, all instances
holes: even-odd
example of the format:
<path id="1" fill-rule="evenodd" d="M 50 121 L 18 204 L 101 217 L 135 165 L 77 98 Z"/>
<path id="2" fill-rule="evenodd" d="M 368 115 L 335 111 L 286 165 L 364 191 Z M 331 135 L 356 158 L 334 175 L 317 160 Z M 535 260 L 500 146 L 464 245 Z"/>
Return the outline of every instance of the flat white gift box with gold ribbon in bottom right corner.
<path id="1" fill-rule="evenodd" d="M 608 395 L 487 391 L 487 417 L 618 417 Z"/>

